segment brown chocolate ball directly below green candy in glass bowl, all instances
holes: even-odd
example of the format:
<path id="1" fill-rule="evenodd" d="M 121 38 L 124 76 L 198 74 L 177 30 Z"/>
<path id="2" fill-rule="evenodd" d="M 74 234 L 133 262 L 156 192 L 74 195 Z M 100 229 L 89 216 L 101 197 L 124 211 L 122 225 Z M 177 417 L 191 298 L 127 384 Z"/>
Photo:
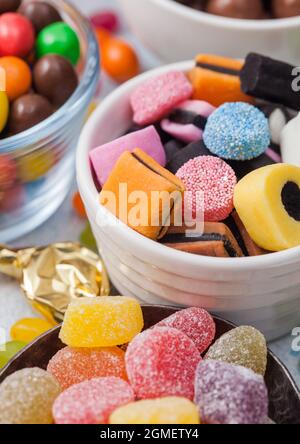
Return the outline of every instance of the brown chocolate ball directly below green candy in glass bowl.
<path id="1" fill-rule="evenodd" d="M 35 90 L 55 106 L 62 106 L 78 85 L 73 65 L 65 57 L 50 54 L 42 57 L 34 66 Z"/>

